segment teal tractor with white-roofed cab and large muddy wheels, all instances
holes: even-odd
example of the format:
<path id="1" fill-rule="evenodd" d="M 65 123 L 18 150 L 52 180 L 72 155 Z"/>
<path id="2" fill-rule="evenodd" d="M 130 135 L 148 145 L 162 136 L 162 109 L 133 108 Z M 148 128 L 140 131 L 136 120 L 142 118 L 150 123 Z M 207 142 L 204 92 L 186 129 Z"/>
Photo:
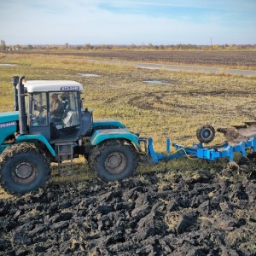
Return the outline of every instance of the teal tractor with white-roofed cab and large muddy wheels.
<path id="1" fill-rule="evenodd" d="M 115 119 L 93 119 L 83 108 L 83 85 L 64 80 L 12 78 L 15 109 L 0 113 L 0 184 L 22 195 L 44 186 L 50 163 L 71 165 L 83 155 L 105 181 L 131 176 L 143 154 L 138 134 Z M 59 119 L 51 117 L 51 97 L 61 102 Z"/>

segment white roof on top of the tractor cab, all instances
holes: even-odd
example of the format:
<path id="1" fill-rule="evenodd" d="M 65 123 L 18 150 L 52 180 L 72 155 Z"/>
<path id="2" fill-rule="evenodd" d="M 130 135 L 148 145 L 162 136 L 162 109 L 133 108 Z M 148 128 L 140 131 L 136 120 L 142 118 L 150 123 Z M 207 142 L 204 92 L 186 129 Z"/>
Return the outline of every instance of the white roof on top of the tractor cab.
<path id="1" fill-rule="evenodd" d="M 67 80 L 29 80 L 23 81 L 27 92 L 83 90 L 83 85 Z"/>

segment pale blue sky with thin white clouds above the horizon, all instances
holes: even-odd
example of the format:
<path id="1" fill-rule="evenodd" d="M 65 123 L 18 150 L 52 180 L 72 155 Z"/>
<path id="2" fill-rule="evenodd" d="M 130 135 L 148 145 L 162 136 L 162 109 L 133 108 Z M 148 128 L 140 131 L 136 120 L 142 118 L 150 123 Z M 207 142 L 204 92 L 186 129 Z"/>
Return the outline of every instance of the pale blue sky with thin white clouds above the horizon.
<path id="1" fill-rule="evenodd" d="M 0 39 L 28 44 L 256 44 L 256 0 L 0 0 Z"/>

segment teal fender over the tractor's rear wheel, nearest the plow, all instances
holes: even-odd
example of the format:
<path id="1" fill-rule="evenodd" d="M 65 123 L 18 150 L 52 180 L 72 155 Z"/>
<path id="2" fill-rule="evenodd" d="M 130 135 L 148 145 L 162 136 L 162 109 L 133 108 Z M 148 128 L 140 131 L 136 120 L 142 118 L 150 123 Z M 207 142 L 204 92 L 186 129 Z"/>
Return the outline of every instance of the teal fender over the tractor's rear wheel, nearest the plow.
<path id="1" fill-rule="evenodd" d="M 137 135 L 126 128 L 96 130 L 90 137 L 90 143 L 96 146 L 108 139 L 126 139 L 134 143 L 141 150 Z"/>

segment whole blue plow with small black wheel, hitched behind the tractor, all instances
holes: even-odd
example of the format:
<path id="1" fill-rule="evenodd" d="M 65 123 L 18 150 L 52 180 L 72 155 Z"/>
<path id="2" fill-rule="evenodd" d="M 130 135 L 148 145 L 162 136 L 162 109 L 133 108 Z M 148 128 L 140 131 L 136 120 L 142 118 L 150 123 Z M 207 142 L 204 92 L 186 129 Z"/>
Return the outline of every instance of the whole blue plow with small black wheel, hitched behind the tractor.
<path id="1" fill-rule="evenodd" d="M 160 160 L 172 160 L 182 157 L 193 157 L 205 160 L 218 160 L 228 158 L 234 162 L 234 153 L 241 153 L 242 157 L 247 156 L 247 150 L 256 151 L 256 122 L 245 122 L 244 125 L 232 125 L 230 127 L 220 127 L 218 132 L 224 134 L 225 141 L 222 144 L 207 146 L 215 136 L 215 129 L 212 125 L 203 125 L 196 131 L 196 137 L 200 143 L 194 143 L 191 147 L 173 143 L 176 151 L 172 154 L 170 151 L 171 140 L 166 139 L 166 154 L 158 154 L 154 151 L 153 138 L 148 140 L 148 155 L 158 163 Z"/>

